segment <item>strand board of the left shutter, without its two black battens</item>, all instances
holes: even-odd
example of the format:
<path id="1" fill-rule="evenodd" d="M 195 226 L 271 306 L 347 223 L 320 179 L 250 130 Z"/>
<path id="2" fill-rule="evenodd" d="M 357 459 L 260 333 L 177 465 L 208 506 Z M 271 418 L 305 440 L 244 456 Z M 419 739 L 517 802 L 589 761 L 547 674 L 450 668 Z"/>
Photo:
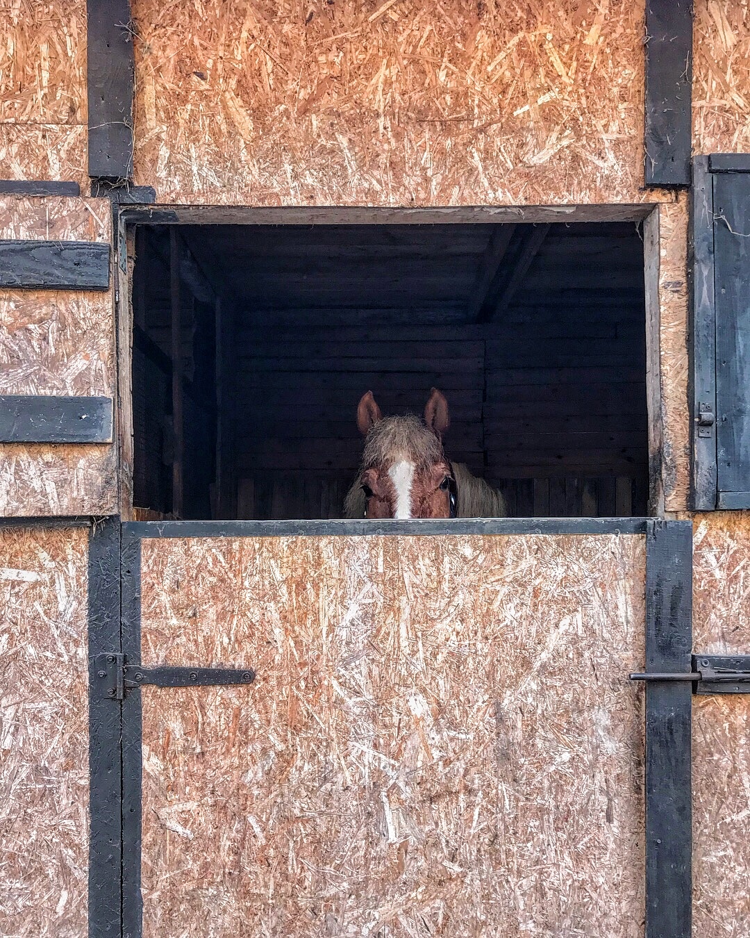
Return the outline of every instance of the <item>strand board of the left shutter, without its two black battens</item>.
<path id="1" fill-rule="evenodd" d="M 112 241 L 106 199 L 0 197 L 0 237 Z M 113 396 L 108 292 L 0 289 L 0 393 Z M 0 445 L 0 515 L 113 514 L 115 446 Z"/>

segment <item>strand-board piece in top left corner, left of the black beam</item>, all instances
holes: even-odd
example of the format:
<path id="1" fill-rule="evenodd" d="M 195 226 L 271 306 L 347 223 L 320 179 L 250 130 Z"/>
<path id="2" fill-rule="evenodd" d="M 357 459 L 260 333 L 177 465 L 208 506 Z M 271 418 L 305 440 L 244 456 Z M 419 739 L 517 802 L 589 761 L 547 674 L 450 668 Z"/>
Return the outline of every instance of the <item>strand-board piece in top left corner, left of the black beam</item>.
<path id="1" fill-rule="evenodd" d="M 0 5 L 0 178 L 86 174 L 86 4 Z"/>

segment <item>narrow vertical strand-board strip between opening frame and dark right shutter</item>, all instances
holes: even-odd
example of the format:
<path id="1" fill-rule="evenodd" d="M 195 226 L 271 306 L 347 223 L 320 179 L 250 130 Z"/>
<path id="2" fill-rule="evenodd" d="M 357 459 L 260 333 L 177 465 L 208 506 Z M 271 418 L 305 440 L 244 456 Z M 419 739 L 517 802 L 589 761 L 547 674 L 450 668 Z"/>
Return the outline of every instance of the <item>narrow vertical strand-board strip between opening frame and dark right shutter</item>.
<path id="1" fill-rule="evenodd" d="M 684 511 L 690 487 L 687 406 L 687 196 L 659 206 L 659 351 L 664 507 Z"/>

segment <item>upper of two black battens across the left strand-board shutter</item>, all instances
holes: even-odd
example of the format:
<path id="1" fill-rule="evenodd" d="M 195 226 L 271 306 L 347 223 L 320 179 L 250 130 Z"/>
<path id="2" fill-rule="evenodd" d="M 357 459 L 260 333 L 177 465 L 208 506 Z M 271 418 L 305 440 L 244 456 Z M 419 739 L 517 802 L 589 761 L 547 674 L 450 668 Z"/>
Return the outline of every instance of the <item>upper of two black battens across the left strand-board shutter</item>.
<path id="1" fill-rule="evenodd" d="M 0 241 L 0 286 L 109 290 L 110 246 L 102 241 Z"/>

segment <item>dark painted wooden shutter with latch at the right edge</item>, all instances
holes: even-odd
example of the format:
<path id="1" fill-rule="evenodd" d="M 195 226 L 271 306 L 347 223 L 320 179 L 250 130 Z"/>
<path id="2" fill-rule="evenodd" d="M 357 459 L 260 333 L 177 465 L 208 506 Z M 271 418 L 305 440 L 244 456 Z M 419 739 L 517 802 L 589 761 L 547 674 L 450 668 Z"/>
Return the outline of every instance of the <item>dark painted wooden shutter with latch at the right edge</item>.
<path id="1" fill-rule="evenodd" d="M 693 507 L 750 508 L 750 155 L 698 157 Z"/>

